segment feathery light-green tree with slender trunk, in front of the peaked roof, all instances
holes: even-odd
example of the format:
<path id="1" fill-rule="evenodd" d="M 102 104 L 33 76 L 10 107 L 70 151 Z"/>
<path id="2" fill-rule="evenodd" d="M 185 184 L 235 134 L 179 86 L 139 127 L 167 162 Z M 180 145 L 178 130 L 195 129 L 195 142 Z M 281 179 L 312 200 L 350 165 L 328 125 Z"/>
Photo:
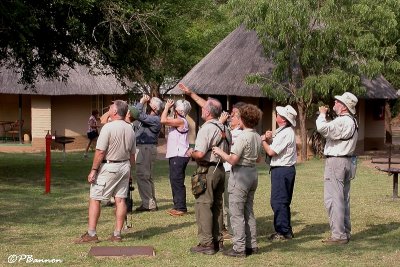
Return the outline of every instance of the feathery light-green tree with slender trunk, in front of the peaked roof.
<path id="1" fill-rule="evenodd" d="M 236 22 L 257 32 L 274 63 L 271 75 L 252 75 L 279 103 L 299 112 L 301 160 L 307 159 L 306 117 L 317 101 L 351 91 L 362 95 L 362 75 L 398 73 L 397 0 L 230 0 Z"/>

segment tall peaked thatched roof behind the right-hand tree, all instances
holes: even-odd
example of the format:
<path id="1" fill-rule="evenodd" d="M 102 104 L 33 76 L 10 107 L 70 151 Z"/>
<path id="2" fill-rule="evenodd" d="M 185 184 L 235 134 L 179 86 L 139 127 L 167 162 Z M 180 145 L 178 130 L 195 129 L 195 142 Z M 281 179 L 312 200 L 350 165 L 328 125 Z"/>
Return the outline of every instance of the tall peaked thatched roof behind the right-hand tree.
<path id="1" fill-rule="evenodd" d="M 260 88 L 248 85 L 246 76 L 251 73 L 271 73 L 273 63 L 264 56 L 263 47 L 255 31 L 239 26 L 222 40 L 208 55 L 193 67 L 181 80 L 198 94 L 263 97 Z M 368 80 L 362 78 L 367 88 L 365 98 L 398 98 L 394 87 L 382 76 Z M 181 94 L 175 87 L 171 94 Z"/>

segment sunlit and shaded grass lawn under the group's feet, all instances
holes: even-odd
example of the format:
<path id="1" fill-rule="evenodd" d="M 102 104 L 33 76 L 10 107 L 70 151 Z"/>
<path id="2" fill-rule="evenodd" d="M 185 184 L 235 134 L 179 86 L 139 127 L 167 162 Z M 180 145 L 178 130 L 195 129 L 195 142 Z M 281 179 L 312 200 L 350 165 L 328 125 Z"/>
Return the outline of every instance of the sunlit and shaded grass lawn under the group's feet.
<path id="1" fill-rule="evenodd" d="M 93 154 L 90 154 L 92 157 Z M 98 244 L 76 245 L 74 239 L 87 228 L 89 185 L 86 177 L 91 157 L 68 153 L 65 161 L 52 153 L 51 193 L 44 195 L 44 154 L 0 154 L 0 266 L 11 255 L 32 255 L 34 259 L 60 259 L 66 266 L 400 266 L 400 201 L 393 201 L 392 178 L 359 163 L 352 182 L 352 240 L 343 246 L 324 245 L 329 236 L 323 205 L 323 160 L 297 166 L 292 202 L 295 238 L 271 243 L 273 214 L 269 204 L 270 178 L 259 166 L 255 199 L 258 243 L 261 253 L 236 259 L 217 253 L 193 255 L 197 226 L 187 169 L 187 216 L 175 218 L 166 211 L 172 198 L 168 163 L 157 161 L 155 181 L 159 211 L 133 214 L 133 228 L 124 240 L 113 244 L 106 239 L 113 231 L 113 208 L 102 208 Z M 134 204 L 139 204 L 137 190 Z M 225 242 L 226 246 L 231 243 Z M 154 246 L 156 257 L 96 259 L 88 256 L 91 246 Z M 14 264 L 17 265 L 17 264 Z"/>

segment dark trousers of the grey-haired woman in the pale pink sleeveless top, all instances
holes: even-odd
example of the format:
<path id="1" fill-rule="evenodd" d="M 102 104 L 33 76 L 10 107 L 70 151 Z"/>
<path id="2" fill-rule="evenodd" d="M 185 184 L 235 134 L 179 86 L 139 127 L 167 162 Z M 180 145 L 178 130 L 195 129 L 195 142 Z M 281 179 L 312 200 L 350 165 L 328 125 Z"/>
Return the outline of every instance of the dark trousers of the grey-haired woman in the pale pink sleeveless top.
<path id="1" fill-rule="evenodd" d="M 184 212 L 187 211 L 185 170 L 188 162 L 188 157 L 169 158 L 169 180 L 171 183 L 174 209 Z"/>

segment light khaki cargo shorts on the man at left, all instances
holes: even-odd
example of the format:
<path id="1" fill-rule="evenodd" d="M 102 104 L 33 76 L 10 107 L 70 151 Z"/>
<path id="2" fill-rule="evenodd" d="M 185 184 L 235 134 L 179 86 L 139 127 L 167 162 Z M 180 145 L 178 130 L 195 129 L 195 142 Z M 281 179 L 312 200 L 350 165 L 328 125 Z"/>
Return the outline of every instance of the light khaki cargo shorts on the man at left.
<path id="1" fill-rule="evenodd" d="M 130 169 L 129 161 L 102 164 L 96 181 L 90 185 L 90 198 L 100 201 L 111 197 L 126 198 Z"/>

